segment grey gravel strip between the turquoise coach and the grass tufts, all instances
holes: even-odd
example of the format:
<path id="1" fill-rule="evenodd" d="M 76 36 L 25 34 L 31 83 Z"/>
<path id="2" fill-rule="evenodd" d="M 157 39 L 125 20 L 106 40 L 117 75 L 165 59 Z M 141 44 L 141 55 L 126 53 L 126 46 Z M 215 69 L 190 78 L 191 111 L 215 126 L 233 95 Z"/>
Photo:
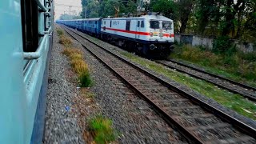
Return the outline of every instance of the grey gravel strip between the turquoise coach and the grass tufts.
<path id="1" fill-rule="evenodd" d="M 43 143 L 85 143 L 78 126 L 78 116 L 73 112 L 72 99 L 77 96 L 78 91 L 67 76 L 71 68 L 68 59 L 61 54 L 62 49 L 54 30 Z"/>

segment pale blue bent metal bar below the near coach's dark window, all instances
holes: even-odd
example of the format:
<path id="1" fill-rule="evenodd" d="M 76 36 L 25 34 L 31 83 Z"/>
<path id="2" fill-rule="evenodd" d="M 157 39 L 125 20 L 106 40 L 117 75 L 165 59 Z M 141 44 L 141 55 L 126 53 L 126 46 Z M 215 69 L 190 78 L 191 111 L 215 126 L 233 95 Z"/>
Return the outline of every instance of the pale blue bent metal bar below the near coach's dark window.
<path id="1" fill-rule="evenodd" d="M 40 42 L 39 46 L 38 46 L 38 50 L 35 52 L 25 52 L 23 53 L 23 58 L 26 60 L 31 60 L 31 59 L 38 59 L 42 56 L 42 51 L 44 50 L 45 46 L 44 43 L 46 42 L 46 38 L 50 35 L 51 33 L 51 27 L 49 28 L 49 30 L 44 32 L 44 36 L 42 38 L 42 41 Z"/>

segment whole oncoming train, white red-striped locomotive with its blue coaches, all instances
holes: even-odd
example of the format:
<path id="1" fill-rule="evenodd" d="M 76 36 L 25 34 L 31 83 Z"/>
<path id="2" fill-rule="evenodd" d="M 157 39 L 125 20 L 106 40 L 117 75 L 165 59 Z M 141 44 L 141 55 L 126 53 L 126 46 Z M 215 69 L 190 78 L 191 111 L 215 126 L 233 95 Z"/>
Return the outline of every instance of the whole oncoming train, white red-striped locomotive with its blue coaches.
<path id="1" fill-rule="evenodd" d="M 174 22 L 157 13 L 130 18 L 58 20 L 57 23 L 150 58 L 166 58 L 174 50 Z"/>

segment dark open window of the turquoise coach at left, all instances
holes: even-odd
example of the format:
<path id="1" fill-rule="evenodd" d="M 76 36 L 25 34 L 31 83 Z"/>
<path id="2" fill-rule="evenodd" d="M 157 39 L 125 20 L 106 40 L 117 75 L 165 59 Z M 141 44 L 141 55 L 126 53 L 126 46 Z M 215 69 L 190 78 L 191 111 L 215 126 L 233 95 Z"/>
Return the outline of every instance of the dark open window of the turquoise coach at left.
<path id="1" fill-rule="evenodd" d="M 34 0 L 21 0 L 23 51 L 38 48 L 38 5 Z"/>

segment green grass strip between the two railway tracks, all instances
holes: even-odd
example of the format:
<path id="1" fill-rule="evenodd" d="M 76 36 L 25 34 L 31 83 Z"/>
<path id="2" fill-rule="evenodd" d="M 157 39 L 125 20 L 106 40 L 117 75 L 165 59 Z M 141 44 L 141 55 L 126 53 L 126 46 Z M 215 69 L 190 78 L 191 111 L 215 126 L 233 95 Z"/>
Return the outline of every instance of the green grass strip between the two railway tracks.
<path id="1" fill-rule="evenodd" d="M 238 114 L 242 114 L 248 118 L 256 120 L 256 104 L 246 100 L 246 98 L 243 98 L 239 94 L 230 93 L 227 90 L 218 88 L 218 86 L 214 86 L 210 82 L 192 78 L 187 74 L 182 74 L 175 70 L 170 70 L 165 66 L 161 66 L 155 62 L 146 60 L 145 58 L 140 58 L 134 54 L 130 54 L 128 52 L 120 53 L 126 56 L 126 58 L 130 58 L 133 62 L 146 66 L 158 74 L 165 75 L 167 78 L 173 79 L 174 81 L 186 85 L 200 94 L 214 99 L 223 106 L 238 112 Z"/>

